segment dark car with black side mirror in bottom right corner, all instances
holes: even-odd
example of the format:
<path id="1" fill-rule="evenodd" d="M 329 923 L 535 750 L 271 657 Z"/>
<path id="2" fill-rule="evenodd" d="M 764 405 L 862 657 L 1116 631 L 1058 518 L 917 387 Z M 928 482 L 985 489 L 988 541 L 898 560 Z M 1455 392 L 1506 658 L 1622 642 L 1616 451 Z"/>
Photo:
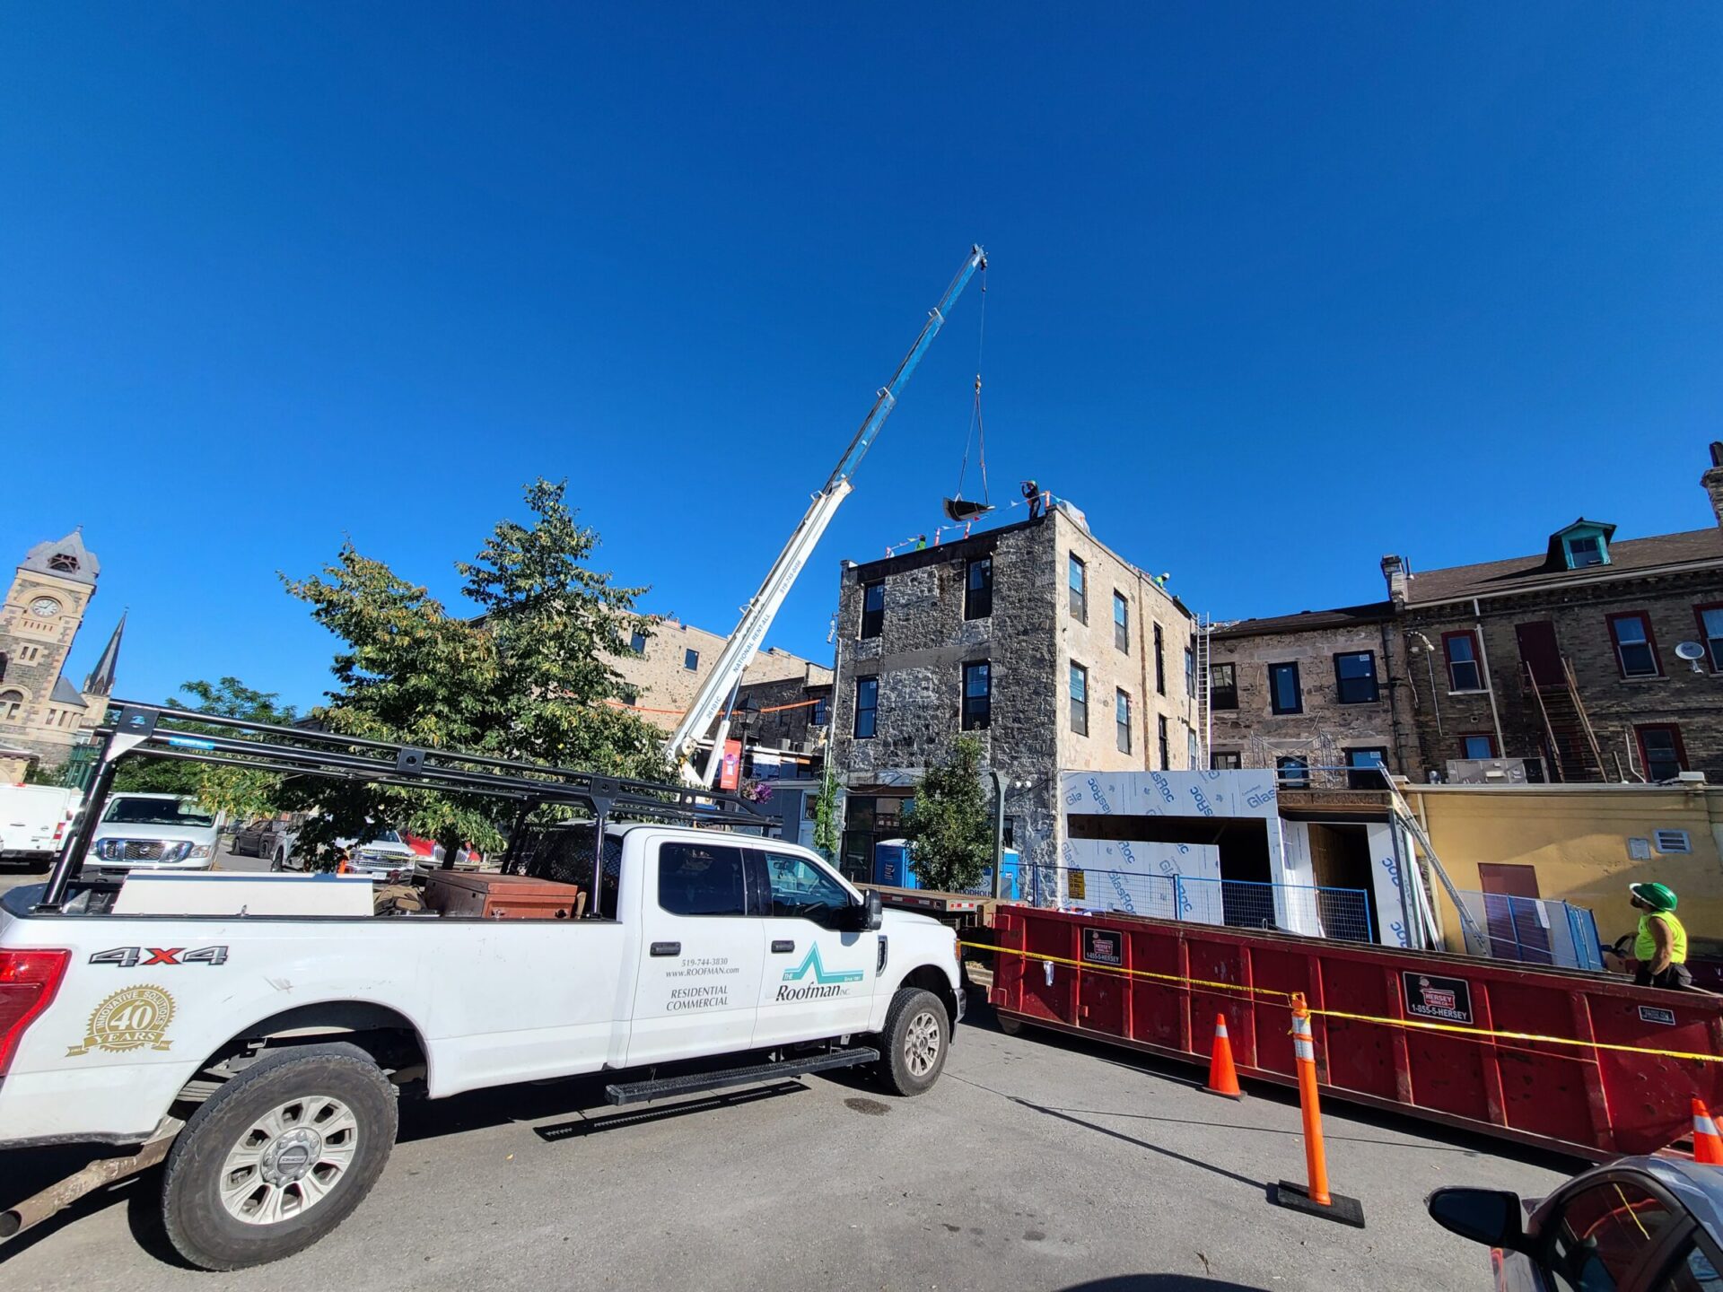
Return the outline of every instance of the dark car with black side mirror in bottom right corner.
<path id="1" fill-rule="evenodd" d="M 1501 1292 L 1716 1292 L 1723 1289 L 1723 1168 L 1618 1158 L 1535 1204 L 1496 1189 L 1437 1189 L 1446 1230 L 1490 1249 Z"/>

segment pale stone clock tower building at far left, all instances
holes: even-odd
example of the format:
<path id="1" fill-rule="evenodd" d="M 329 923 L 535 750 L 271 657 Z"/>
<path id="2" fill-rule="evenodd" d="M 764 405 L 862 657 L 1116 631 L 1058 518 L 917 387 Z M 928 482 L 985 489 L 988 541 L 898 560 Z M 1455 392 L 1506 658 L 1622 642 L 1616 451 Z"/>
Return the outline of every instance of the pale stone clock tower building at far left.
<path id="1" fill-rule="evenodd" d="M 100 572 L 83 532 L 72 531 L 31 548 L 12 577 L 0 608 L 0 779 L 17 780 L 31 763 L 60 767 L 107 711 L 124 615 L 83 689 L 62 674 Z"/>

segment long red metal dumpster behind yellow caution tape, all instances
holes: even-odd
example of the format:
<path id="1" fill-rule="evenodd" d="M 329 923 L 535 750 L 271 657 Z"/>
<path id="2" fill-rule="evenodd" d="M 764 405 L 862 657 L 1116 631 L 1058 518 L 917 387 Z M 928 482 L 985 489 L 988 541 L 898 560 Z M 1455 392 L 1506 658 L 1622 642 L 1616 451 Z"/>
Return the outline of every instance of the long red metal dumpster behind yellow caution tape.
<path id="1" fill-rule="evenodd" d="M 1594 1159 L 1685 1139 L 1695 1096 L 1723 1108 L 1723 1063 L 1676 1058 L 1723 1056 L 1723 997 L 1113 913 L 1001 906 L 994 932 L 1006 1025 L 1208 1063 L 1223 1013 L 1239 1071 L 1296 1085 L 1304 992 L 1337 1099 Z"/>

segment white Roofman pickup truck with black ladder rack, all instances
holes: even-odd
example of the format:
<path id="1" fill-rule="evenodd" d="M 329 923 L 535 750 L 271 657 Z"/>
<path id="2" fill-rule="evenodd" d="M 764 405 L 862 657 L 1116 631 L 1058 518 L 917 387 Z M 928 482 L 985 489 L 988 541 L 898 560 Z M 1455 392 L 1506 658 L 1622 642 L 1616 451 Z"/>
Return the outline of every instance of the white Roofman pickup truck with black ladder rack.
<path id="1" fill-rule="evenodd" d="M 283 748 L 295 755 L 336 742 L 293 737 Z M 134 748 L 162 741 L 157 732 Z M 463 772 L 432 767 L 434 751 L 377 758 L 379 779 L 384 763 L 395 772 L 410 758 L 424 760 L 414 779 L 462 784 Z M 315 775 L 312 761 L 257 755 L 252 765 Z M 353 777 L 357 761 L 346 756 L 339 773 Z M 484 779 L 488 792 L 505 780 L 495 768 Z M 396 1089 L 420 1082 L 436 1099 L 715 1056 L 736 1058 L 718 1071 L 617 1084 L 608 1096 L 631 1103 L 856 1063 L 872 1063 L 903 1096 L 936 1082 L 963 1013 L 949 929 L 884 913 L 877 894 L 853 889 L 818 854 L 763 834 L 606 823 L 612 813 L 646 815 L 655 799 L 632 789 L 641 782 L 588 780 L 513 782 L 541 801 L 596 808 L 588 834 L 603 848 L 588 873 L 598 899 L 582 918 L 128 916 L 112 913 L 114 880 L 78 879 L 88 839 L 74 839 L 47 885 L 0 899 L 0 1149 L 141 1147 L 0 1214 L 0 1237 L 165 1159 L 165 1230 L 188 1261 L 234 1270 L 283 1258 L 360 1204 L 389 1156 Z M 689 791 L 650 789 L 681 796 L 656 804 L 672 818 L 737 823 L 713 811 L 718 796 L 693 808 Z M 224 882 L 367 884 L 126 880 L 188 894 Z"/>

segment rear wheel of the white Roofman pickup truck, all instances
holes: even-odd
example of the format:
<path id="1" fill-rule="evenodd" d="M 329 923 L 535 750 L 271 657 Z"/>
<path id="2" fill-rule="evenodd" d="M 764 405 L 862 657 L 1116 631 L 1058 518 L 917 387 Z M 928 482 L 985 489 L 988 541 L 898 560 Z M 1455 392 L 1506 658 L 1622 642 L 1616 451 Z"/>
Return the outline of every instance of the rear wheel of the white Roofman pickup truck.
<path id="1" fill-rule="evenodd" d="M 167 1237 L 200 1270 L 310 1247 L 370 1192 L 395 1128 L 395 1087 L 358 1046 L 265 1054 L 210 1096 L 169 1149 Z"/>

